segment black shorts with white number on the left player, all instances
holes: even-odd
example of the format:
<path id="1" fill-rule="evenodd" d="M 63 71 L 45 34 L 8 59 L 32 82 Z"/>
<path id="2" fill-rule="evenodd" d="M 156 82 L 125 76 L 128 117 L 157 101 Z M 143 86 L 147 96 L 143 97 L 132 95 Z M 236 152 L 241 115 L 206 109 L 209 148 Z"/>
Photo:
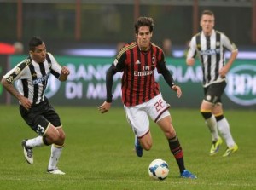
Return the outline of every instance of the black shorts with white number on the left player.
<path id="1" fill-rule="evenodd" d="M 49 123 L 55 127 L 61 126 L 59 115 L 47 99 L 29 110 L 20 105 L 20 115 L 38 135 L 44 135 Z"/>

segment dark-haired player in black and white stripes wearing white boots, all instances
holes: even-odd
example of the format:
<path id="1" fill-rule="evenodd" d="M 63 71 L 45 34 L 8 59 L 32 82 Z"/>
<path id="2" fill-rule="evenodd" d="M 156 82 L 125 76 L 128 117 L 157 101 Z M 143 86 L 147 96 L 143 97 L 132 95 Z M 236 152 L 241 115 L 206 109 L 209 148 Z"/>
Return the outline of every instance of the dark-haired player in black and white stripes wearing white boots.
<path id="1" fill-rule="evenodd" d="M 61 66 L 54 56 L 46 52 L 44 42 L 39 37 L 32 37 L 29 42 L 29 54 L 3 76 L 2 84 L 11 95 L 20 101 L 20 115 L 38 137 L 21 142 L 28 164 L 33 164 L 33 147 L 51 145 L 48 173 L 64 175 L 57 168 L 64 147 L 65 133 L 61 119 L 54 107 L 44 96 L 49 74 L 60 81 L 66 81 L 69 75 L 67 66 Z M 13 85 L 17 81 L 16 86 Z"/>

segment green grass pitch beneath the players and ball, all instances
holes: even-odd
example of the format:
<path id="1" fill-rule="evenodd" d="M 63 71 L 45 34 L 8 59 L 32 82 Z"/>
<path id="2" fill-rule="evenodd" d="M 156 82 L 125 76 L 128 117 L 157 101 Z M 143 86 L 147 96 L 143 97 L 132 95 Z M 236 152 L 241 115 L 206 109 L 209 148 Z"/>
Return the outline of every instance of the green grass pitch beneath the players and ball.
<path id="1" fill-rule="evenodd" d="M 55 107 L 67 139 L 59 168 L 65 176 L 46 173 L 49 147 L 34 148 L 34 164 L 26 164 L 20 141 L 36 134 L 26 126 L 17 106 L 0 106 L 0 189 L 256 189 L 256 111 L 227 110 L 237 153 L 223 158 L 208 155 L 211 137 L 198 109 L 172 107 L 171 114 L 188 170 L 196 180 L 181 179 L 161 130 L 151 123 L 153 147 L 137 158 L 134 136 L 120 107 L 105 114 L 97 107 Z M 165 181 L 148 176 L 148 164 L 162 158 L 169 164 Z"/>

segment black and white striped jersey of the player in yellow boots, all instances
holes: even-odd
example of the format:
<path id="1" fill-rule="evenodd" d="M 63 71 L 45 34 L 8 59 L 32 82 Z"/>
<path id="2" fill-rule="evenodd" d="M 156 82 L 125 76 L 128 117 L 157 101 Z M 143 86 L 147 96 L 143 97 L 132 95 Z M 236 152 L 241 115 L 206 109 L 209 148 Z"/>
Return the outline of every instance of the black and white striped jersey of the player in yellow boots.
<path id="1" fill-rule="evenodd" d="M 198 54 L 203 72 L 203 86 L 211 83 L 220 83 L 225 80 L 219 75 L 219 70 L 225 65 L 224 53 L 237 51 L 236 44 L 224 35 L 223 32 L 213 30 L 212 35 L 207 37 L 203 32 L 192 37 L 189 44 L 187 59 L 195 58 Z"/>

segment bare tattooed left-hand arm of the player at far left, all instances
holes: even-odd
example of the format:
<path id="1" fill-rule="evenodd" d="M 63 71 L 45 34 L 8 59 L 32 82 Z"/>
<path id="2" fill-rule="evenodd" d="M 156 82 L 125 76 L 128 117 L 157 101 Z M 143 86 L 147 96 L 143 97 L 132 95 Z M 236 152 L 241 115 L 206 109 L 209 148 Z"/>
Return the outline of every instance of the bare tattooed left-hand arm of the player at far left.
<path id="1" fill-rule="evenodd" d="M 32 102 L 29 101 L 26 97 L 23 95 L 20 95 L 20 93 L 15 89 L 14 85 L 12 83 L 9 83 L 6 78 L 2 78 L 1 83 L 6 89 L 9 94 L 15 96 L 16 99 L 20 101 L 20 104 L 26 108 L 26 110 L 30 109 L 32 106 Z"/>

